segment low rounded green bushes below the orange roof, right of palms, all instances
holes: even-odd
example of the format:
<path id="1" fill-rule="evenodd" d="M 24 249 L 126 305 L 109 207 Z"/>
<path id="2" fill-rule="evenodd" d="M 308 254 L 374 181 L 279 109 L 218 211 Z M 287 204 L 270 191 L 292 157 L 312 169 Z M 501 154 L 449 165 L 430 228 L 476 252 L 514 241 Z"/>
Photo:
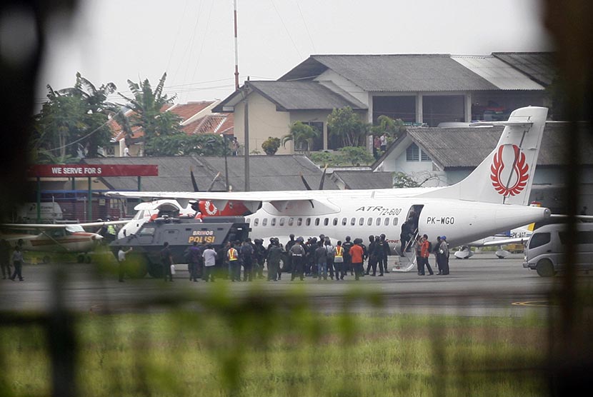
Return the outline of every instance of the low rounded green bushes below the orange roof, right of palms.
<path id="1" fill-rule="evenodd" d="M 217 134 L 174 134 L 155 136 L 146 141 L 144 150 L 151 156 L 224 156 L 229 149 Z"/>

